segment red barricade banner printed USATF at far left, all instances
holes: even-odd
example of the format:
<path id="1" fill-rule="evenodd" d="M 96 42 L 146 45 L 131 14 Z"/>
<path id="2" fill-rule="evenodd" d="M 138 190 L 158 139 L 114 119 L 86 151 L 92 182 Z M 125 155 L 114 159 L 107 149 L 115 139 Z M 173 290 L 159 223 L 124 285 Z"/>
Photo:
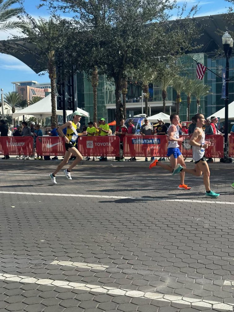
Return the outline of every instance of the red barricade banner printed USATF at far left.
<path id="1" fill-rule="evenodd" d="M 32 137 L 0 137 L 0 154 L 2 155 L 32 155 Z"/>

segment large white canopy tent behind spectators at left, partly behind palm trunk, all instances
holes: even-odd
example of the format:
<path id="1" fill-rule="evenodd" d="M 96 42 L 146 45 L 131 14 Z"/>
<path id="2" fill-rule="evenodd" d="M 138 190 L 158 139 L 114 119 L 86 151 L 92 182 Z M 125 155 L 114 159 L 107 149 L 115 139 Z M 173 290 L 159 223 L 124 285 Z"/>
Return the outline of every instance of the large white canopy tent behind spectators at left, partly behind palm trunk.
<path id="1" fill-rule="evenodd" d="M 66 111 L 67 115 L 72 114 L 72 110 Z M 85 112 L 88 114 L 87 112 Z M 39 102 L 29 105 L 23 110 L 18 110 L 13 115 L 13 118 L 17 118 L 22 115 L 32 115 L 38 117 L 40 119 L 50 117 L 51 116 L 51 95 L 47 95 L 45 98 L 40 100 Z M 62 110 L 56 110 L 56 115 L 63 115 Z"/>

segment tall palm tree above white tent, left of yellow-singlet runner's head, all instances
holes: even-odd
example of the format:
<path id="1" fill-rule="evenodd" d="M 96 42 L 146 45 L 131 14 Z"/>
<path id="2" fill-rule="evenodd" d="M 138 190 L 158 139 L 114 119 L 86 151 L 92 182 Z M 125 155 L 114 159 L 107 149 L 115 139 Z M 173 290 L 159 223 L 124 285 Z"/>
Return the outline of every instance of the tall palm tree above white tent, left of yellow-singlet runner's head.
<path id="1" fill-rule="evenodd" d="M 23 33 L 27 35 L 28 42 L 37 46 L 37 53 L 46 62 L 51 81 L 51 122 L 57 124 L 55 48 L 61 36 L 58 24 L 52 18 L 48 21 L 32 19 L 31 24 L 23 27 Z"/>

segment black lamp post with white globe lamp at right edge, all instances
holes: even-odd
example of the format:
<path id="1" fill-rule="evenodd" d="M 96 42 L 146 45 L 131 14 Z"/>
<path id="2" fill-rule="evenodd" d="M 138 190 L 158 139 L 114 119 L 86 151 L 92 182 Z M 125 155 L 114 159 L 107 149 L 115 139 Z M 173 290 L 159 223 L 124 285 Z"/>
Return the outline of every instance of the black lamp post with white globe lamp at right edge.
<path id="1" fill-rule="evenodd" d="M 228 100 L 229 100 L 229 59 L 231 57 L 232 54 L 232 46 L 233 46 L 233 39 L 232 37 L 229 35 L 228 32 L 225 32 L 225 34 L 222 36 L 222 43 L 223 43 L 223 51 L 225 53 L 226 56 L 226 76 L 225 76 L 225 88 L 226 88 L 226 98 L 224 100 L 225 102 L 225 128 L 224 128 L 224 152 L 226 153 L 226 156 L 228 159 L 228 154 L 227 154 L 227 144 L 228 144 Z"/>

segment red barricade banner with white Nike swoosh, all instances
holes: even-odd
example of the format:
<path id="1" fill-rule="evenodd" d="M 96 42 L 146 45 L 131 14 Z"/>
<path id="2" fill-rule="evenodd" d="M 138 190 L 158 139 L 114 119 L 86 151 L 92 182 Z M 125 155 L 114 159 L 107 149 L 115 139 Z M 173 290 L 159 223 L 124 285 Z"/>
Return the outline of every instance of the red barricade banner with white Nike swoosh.
<path id="1" fill-rule="evenodd" d="M 65 154 L 64 138 L 62 137 L 37 137 L 36 150 L 37 155 L 40 156 L 63 156 Z"/>

